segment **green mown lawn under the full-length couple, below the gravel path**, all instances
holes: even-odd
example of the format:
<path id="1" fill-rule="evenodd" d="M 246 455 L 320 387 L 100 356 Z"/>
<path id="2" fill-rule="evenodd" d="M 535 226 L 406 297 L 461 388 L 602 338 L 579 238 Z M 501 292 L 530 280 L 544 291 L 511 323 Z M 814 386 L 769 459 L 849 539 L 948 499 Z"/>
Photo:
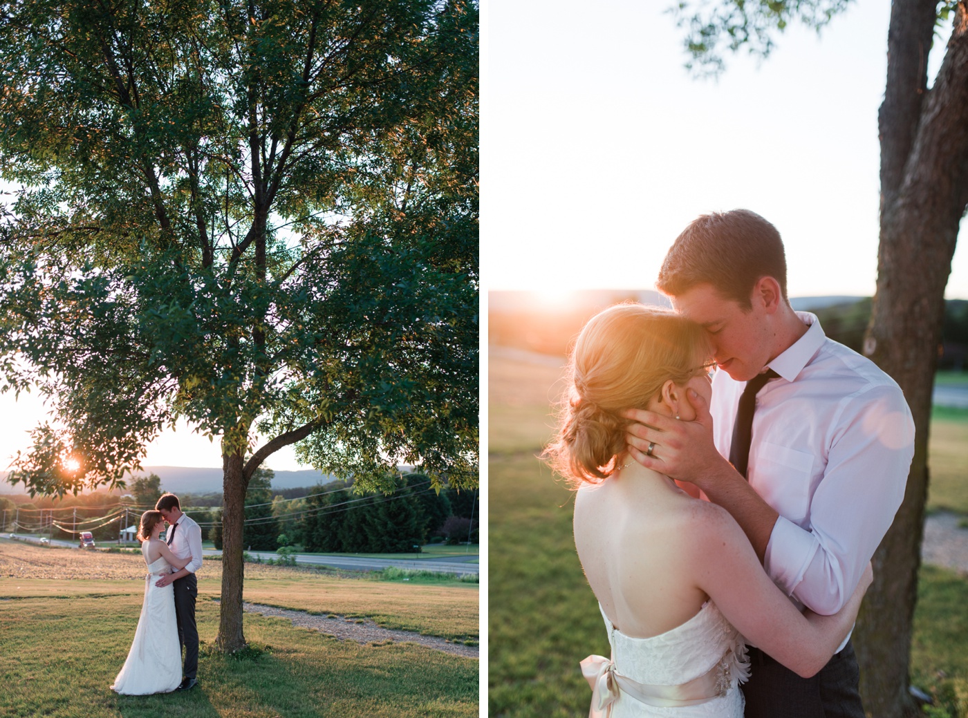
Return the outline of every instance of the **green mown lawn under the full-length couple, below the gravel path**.
<path id="1" fill-rule="evenodd" d="M 6 581 L 5 581 L 6 583 Z M 246 615 L 246 638 L 268 646 L 229 659 L 203 645 L 188 693 L 117 696 L 109 690 L 135 635 L 136 595 L 5 599 L 0 610 L 0 715 L 156 718 L 476 716 L 477 661 L 413 643 L 337 641 L 287 620 Z M 211 642 L 219 608 L 197 605 Z"/>

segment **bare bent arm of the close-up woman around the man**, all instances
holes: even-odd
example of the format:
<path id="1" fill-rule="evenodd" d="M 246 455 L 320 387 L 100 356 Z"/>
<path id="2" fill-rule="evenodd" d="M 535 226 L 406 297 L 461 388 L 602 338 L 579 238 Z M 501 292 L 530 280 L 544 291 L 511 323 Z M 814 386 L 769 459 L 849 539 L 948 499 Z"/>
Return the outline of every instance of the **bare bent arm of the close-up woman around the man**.
<path id="1" fill-rule="evenodd" d="M 714 504 L 702 513 L 689 542 L 699 586 L 749 643 L 802 677 L 819 672 L 854 625 L 872 579 L 869 567 L 838 613 L 800 613 L 763 570 L 740 525 Z"/>

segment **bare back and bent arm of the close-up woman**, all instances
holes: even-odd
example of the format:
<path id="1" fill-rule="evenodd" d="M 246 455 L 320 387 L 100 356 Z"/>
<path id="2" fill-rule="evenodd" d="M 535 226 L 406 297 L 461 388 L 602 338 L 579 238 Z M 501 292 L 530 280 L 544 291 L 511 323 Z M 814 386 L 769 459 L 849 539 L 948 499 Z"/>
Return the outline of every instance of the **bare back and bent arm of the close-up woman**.
<path id="1" fill-rule="evenodd" d="M 830 659 L 857 616 L 869 569 L 834 615 L 802 615 L 771 582 L 725 509 L 634 464 L 575 498 L 575 546 L 592 591 L 624 635 L 651 638 L 711 600 L 740 633 L 796 673 Z"/>

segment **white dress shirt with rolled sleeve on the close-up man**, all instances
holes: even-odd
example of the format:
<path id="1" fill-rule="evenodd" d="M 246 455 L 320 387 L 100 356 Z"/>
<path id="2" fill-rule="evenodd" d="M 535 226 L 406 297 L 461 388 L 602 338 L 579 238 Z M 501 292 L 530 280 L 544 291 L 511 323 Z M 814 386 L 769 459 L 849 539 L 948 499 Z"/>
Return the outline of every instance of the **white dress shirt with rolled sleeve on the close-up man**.
<path id="1" fill-rule="evenodd" d="M 748 478 L 780 515 L 764 568 L 798 606 L 836 613 L 861 579 L 904 497 L 914 422 L 900 387 L 869 359 L 828 339 L 814 314 L 771 361 L 756 398 Z M 717 372 L 716 449 L 729 457 L 745 382 Z M 846 643 L 846 641 L 844 642 Z"/>

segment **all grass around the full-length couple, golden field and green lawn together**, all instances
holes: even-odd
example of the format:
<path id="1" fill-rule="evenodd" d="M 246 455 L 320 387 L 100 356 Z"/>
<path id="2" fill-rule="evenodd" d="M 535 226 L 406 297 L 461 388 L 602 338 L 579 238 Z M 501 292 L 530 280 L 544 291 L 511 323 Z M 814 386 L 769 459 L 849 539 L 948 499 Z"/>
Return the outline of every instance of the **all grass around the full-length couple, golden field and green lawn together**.
<path id="1" fill-rule="evenodd" d="M 108 686 L 135 635 L 144 581 L 141 557 L 0 540 L 0 715 L 478 714 L 478 662 L 414 643 L 341 642 L 286 619 L 246 613 L 246 639 L 268 650 L 247 659 L 212 651 L 221 569 L 218 561 L 209 561 L 199 574 L 200 687 L 187 695 L 116 696 Z M 476 639 L 479 632 L 476 584 L 388 583 L 247 564 L 244 598 L 371 617 L 388 628 L 451 639 Z"/>

